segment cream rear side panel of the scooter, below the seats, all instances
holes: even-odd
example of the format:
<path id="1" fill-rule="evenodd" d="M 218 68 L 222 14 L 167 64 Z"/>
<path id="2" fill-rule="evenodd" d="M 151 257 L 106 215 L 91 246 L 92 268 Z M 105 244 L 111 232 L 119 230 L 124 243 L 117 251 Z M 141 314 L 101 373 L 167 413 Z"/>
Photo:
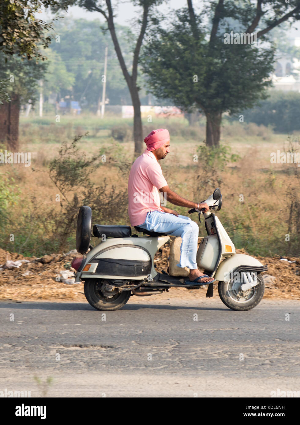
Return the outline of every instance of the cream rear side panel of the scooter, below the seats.
<path id="1" fill-rule="evenodd" d="M 151 260 L 152 266 L 150 273 L 152 278 L 154 278 L 154 276 L 157 275 L 157 271 L 154 269 L 153 265 L 154 255 L 157 250 L 160 249 L 160 247 L 166 244 L 166 242 L 169 240 L 169 236 L 159 236 L 157 238 L 151 238 L 149 236 L 139 238 L 107 238 L 106 241 L 100 242 L 100 244 L 96 245 L 93 249 L 91 249 L 91 251 L 87 253 L 84 266 L 88 263 L 93 263 L 94 259 L 96 260 L 101 258 L 138 261 Z M 149 252 L 151 258 L 144 249 L 140 249 L 138 246 L 146 249 Z M 129 276 L 126 274 L 124 276 L 120 276 L 113 274 L 97 275 L 95 272 L 77 272 L 75 282 L 80 282 L 80 278 L 142 280 L 147 277 L 147 274 L 140 276 Z"/>

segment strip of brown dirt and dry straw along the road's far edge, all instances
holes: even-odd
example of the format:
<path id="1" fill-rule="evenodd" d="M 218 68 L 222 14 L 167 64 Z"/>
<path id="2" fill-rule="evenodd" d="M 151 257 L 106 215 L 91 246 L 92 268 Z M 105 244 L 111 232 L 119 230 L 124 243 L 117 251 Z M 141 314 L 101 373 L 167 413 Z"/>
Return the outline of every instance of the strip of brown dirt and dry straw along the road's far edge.
<path id="1" fill-rule="evenodd" d="M 243 249 L 237 249 L 237 253 L 247 254 Z M 72 250 L 67 254 L 44 255 L 42 258 L 23 257 L 0 249 L 0 300 L 84 301 L 83 283 L 67 285 L 58 280 L 63 270 L 72 271 L 71 260 L 75 255 L 79 254 Z M 167 269 L 168 257 L 169 248 L 166 247 L 156 253 L 154 266 L 157 271 Z M 263 273 L 268 275 L 264 278 L 264 297 L 300 299 L 300 258 L 286 257 L 286 261 L 279 257 L 256 258 L 268 266 L 267 272 Z M 23 262 L 20 267 L 3 269 L 7 260 L 29 262 Z M 170 295 L 184 298 L 205 297 L 205 293 L 205 290 L 170 289 Z"/>

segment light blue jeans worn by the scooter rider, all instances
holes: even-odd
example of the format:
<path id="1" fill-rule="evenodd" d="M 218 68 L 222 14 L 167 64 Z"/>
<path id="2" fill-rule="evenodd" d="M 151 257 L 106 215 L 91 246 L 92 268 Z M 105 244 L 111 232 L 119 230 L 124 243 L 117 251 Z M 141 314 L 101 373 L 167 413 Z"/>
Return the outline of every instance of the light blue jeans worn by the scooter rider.
<path id="1" fill-rule="evenodd" d="M 149 211 L 146 220 L 138 227 L 150 230 L 151 232 L 166 233 L 170 236 L 180 236 L 182 244 L 180 246 L 179 267 L 197 269 L 196 254 L 199 227 L 189 217 L 184 215 L 169 214 L 168 212 Z"/>

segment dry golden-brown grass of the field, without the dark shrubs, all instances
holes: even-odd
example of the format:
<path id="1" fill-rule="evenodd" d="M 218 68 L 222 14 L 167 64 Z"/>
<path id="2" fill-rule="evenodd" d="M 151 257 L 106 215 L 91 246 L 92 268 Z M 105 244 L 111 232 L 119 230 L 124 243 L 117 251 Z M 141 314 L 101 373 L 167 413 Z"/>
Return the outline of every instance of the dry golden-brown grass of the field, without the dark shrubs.
<path id="1" fill-rule="evenodd" d="M 128 167 L 124 168 L 123 165 L 133 157 L 133 143 L 128 141 L 118 144 L 111 139 L 109 125 L 114 124 L 112 119 L 111 124 L 101 122 L 102 127 L 99 122 L 94 121 L 95 127 L 91 130 L 99 137 L 87 136 L 81 139 L 80 153 L 86 153 L 89 156 L 101 148 L 106 154 L 106 162 L 94 171 L 91 181 L 101 187 L 106 179 L 108 185 L 104 194 L 106 200 L 103 199 L 103 204 L 107 208 L 109 202 L 105 201 L 109 201 L 113 186 L 126 194 Z M 86 124 L 83 120 L 74 122 L 73 127 L 67 122 L 68 125 L 62 137 L 65 138 L 72 128 L 71 135 L 81 130 L 90 130 L 91 122 L 91 119 L 87 119 Z M 44 125 L 46 125 L 46 119 Z M 37 125 L 36 127 L 39 129 Z M 50 131 L 52 127 L 47 128 Z M 61 127 L 62 123 L 60 123 Z M 292 201 L 290 187 L 297 183 L 297 177 L 289 173 L 294 166 L 270 163 L 270 153 L 276 152 L 277 149 L 283 150 L 285 135 L 271 134 L 270 139 L 264 136 L 263 131 L 270 135 L 270 130 L 266 127 L 255 127 L 245 123 L 224 126 L 221 142 L 231 147 L 231 153 L 240 155 L 240 160 L 229 162 L 223 171 L 206 169 L 204 172 L 203 159 L 199 157 L 198 161 L 194 162 L 197 147 L 203 139 L 203 126 L 199 127 L 197 133 L 196 127 L 189 129 L 184 122 L 174 124 L 172 120 L 166 122 L 154 120 L 151 125 L 147 123 L 144 128 L 145 133 L 157 127 L 167 127 L 171 134 L 171 153 L 166 159 L 160 161 L 171 189 L 185 198 L 201 201 L 211 194 L 215 187 L 220 187 L 223 194 L 223 208 L 217 212 L 217 215 L 237 248 L 247 249 L 251 255 L 299 255 L 299 250 L 297 251 L 299 232 L 296 228 L 291 229 L 290 241 L 285 241 Z M 37 132 L 37 130 L 34 131 Z M 54 133 L 55 137 L 60 135 L 57 129 Z M 21 189 L 17 204 L 10 210 L 10 224 L 3 231 L 2 246 L 8 250 L 17 249 L 26 255 L 36 255 L 35 249 L 42 241 L 41 238 L 44 241 L 51 236 L 51 228 L 43 230 L 39 216 L 51 222 L 51 210 L 60 214 L 63 213 L 66 205 L 63 195 L 59 193 L 47 173 L 49 162 L 57 156 L 60 143 L 55 142 L 55 138 L 52 142 L 34 142 L 26 133 L 26 128 L 21 134 L 21 142 L 23 142 L 21 150 L 35 152 L 31 167 L 37 171 L 33 172 L 31 167 L 24 167 L 22 164 L 3 164 L 1 167 L 0 173 L 7 172 L 13 176 L 15 183 Z M 300 171 L 299 167 L 298 171 Z M 57 194 L 60 194 L 63 207 L 56 201 Z M 72 192 L 68 193 L 69 198 L 73 195 Z M 97 198 L 96 191 L 92 195 Z M 243 195 L 243 202 L 240 201 L 240 195 Z M 102 199 L 99 201 L 101 203 Z M 82 202 L 81 199 L 79 204 L 80 202 Z M 171 204 L 168 206 L 172 207 Z M 181 214 L 187 213 L 185 208 L 176 209 Z M 110 224 L 113 222 L 129 224 L 126 207 L 122 207 L 122 214 L 115 206 L 107 213 L 111 217 Z M 23 219 L 25 215 L 26 218 Z M 93 218 L 94 221 L 99 220 L 96 213 Z M 192 218 L 197 221 L 196 216 Z M 16 235 L 15 240 L 19 241 L 18 244 L 9 242 L 8 235 L 11 233 Z M 36 235 L 35 244 L 32 238 L 26 242 L 29 233 Z M 200 225 L 200 235 L 205 235 L 203 224 Z M 39 255 L 53 252 L 55 246 L 51 243 L 45 245 L 44 251 Z M 68 251 L 72 247 L 74 247 L 74 229 L 71 229 L 68 244 L 63 249 Z"/>

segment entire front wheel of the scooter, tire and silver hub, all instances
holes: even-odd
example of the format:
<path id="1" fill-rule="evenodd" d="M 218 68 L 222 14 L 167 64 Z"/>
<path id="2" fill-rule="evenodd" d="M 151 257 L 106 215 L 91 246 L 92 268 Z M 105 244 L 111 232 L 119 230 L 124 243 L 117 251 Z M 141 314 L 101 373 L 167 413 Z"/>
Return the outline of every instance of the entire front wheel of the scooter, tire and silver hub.
<path id="1" fill-rule="evenodd" d="M 219 282 L 218 292 L 222 302 L 231 310 L 251 310 L 260 303 L 265 292 L 263 276 L 257 275 L 257 286 L 248 291 L 241 291 L 241 283 L 230 280 L 229 282 Z"/>

